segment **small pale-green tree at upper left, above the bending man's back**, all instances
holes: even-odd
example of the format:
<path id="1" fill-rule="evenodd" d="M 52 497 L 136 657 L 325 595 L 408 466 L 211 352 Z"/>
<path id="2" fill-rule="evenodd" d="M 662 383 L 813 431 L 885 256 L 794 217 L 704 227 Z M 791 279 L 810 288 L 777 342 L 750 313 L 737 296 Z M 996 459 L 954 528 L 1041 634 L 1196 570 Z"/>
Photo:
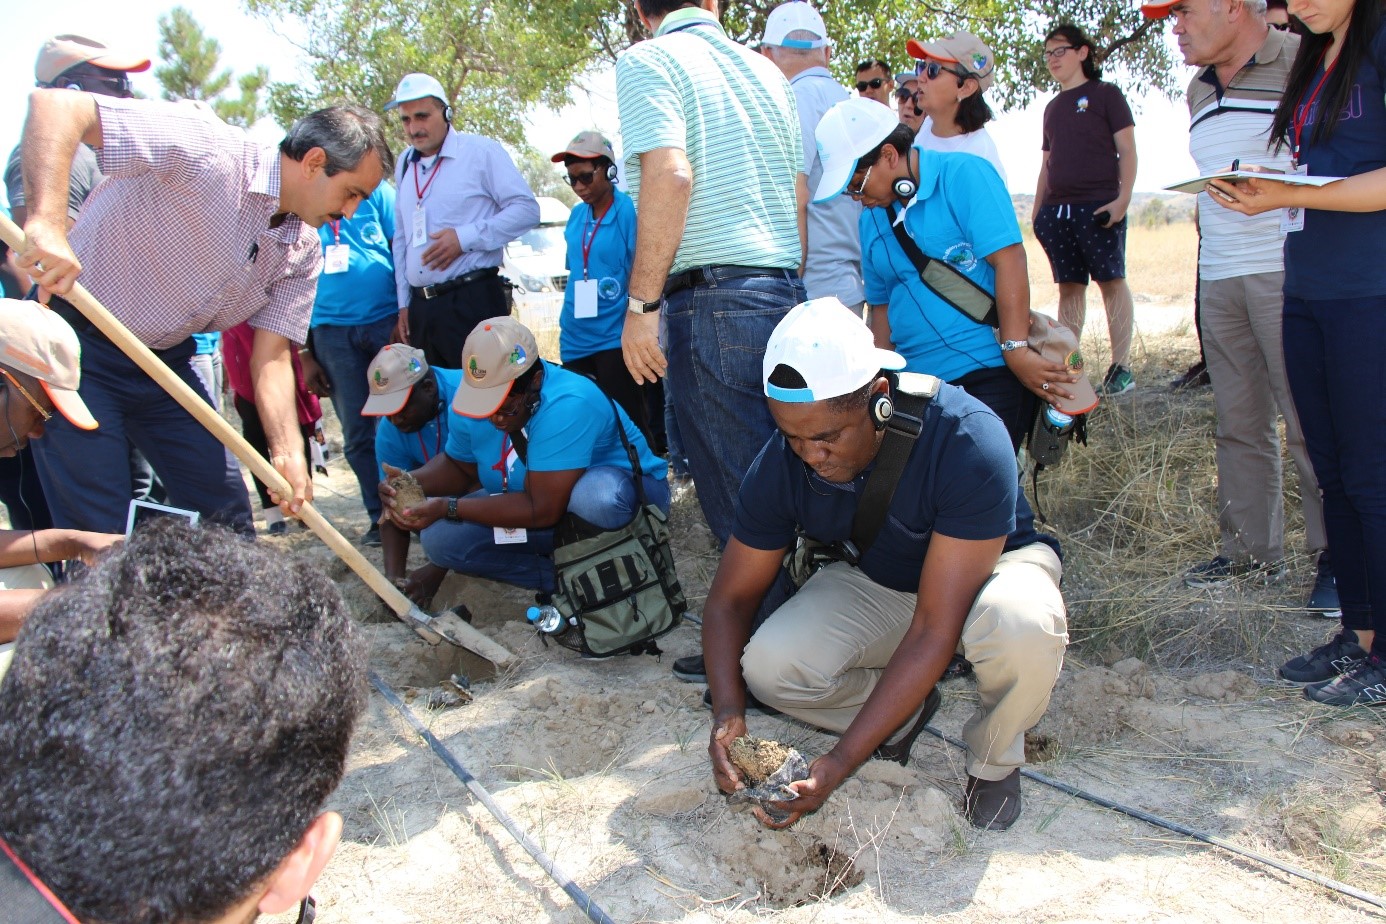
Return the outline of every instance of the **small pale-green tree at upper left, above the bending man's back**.
<path id="1" fill-rule="evenodd" d="M 219 71 L 220 43 L 202 32 L 193 14 L 184 7 L 173 7 L 159 17 L 159 58 L 162 65 L 154 76 L 164 87 L 165 100 L 201 100 L 230 125 L 249 127 L 261 116 L 261 90 L 269 83 L 269 71 L 256 68 L 254 73 L 236 80 L 238 96 L 225 97 L 231 87 L 230 68 Z"/>

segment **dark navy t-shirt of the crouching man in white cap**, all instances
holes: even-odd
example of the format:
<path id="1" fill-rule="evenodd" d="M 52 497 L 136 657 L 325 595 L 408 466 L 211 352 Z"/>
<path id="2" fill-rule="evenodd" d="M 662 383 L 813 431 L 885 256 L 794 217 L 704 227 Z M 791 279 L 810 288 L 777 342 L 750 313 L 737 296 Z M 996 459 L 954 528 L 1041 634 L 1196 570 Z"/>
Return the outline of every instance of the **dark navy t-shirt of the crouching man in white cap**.
<path id="1" fill-rule="evenodd" d="M 866 576 L 893 590 L 919 590 L 936 532 L 973 540 L 1006 536 L 1008 551 L 1035 542 L 1059 551 L 1052 536 L 1035 532 L 1034 514 L 1016 481 L 1010 438 L 985 405 L 944 385 L 924 406 L 923 421 L 886 522 L 862 556 Z M 766 551 L 793 544 L 796 525 L 821 542 L 850 539 L 859 493 L 873 468 L 848 483 L 823 481 L 775 434 L 742 482 L 732 535 Z"/>

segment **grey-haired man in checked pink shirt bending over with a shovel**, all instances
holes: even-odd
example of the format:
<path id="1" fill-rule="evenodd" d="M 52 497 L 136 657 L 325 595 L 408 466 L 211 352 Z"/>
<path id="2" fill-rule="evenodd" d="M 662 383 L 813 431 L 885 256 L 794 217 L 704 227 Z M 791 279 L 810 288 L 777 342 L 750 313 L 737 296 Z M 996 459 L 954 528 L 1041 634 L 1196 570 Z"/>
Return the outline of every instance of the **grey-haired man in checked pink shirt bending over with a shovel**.
<path id="1" fill-rule="evenodd" d="M 76 147 L 97 150 L 105 181 L 67 230 Z M 297 513 L 312 497 L 294 409 L 291 345 L 304 342 L 322 248 L 313 229 L 351 216 L 391 169 L 380 119 L 360 108 L 313 112 L 279 150 L 187 104 L 39 89 L 29 97 L 24 176 L 29 204 L 19 266 L 39 301 L 82 342 L 82 398 L 101 420 L 54 421 L 37 446 L 55 525 L 118 532 L 126 518 L 126 436 L 152 463 L 169 501 L 254 533 L 240 468 L 62 295 L 78 276 L 111 314 L 194 391 L 191 335 L 249 320 L 251 375 L 270 461 Z"/>

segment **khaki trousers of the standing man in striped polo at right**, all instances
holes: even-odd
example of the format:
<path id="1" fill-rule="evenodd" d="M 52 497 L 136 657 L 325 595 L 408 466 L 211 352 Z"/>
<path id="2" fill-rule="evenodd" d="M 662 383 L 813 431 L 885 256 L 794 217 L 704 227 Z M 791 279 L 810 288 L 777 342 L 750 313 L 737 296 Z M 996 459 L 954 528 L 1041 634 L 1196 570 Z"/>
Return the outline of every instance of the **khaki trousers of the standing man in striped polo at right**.
<path id="1" fill-rule="evenodd" d="M 1203 353 L 1217 405 L 1217 506 L 1222 554 L 1235 562 L 1285 557 L 1281 438 L 1300 477 L 1310 554 L 1328 546 L 1324 501 L 1285 378 L 1283 273 L 1199 280 Z"/>

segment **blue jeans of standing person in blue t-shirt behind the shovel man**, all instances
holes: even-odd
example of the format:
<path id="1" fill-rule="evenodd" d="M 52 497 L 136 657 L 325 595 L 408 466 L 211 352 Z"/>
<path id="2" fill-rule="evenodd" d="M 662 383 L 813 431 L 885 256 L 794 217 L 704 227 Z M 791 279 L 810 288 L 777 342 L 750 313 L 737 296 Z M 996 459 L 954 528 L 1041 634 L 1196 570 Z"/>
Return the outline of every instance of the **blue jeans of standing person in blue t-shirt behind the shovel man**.
<path id="1" fill-rule="evenodd" d="M 376 417 L 362 417 L 370 387 L 366 368 L 376 353 L 394 338 L 391 316 L 370 324 L 338 327 L 320 324 L 313 328 L 313 359 L 327 373 L 333 385 L 333 410 L 342 425 L 342 454 L 356 474 L 360 499 L 371 522 L 380 519 L 380 468 L 376 465 Z M 446 398 L 445 398 L 446 400 Z"/>

